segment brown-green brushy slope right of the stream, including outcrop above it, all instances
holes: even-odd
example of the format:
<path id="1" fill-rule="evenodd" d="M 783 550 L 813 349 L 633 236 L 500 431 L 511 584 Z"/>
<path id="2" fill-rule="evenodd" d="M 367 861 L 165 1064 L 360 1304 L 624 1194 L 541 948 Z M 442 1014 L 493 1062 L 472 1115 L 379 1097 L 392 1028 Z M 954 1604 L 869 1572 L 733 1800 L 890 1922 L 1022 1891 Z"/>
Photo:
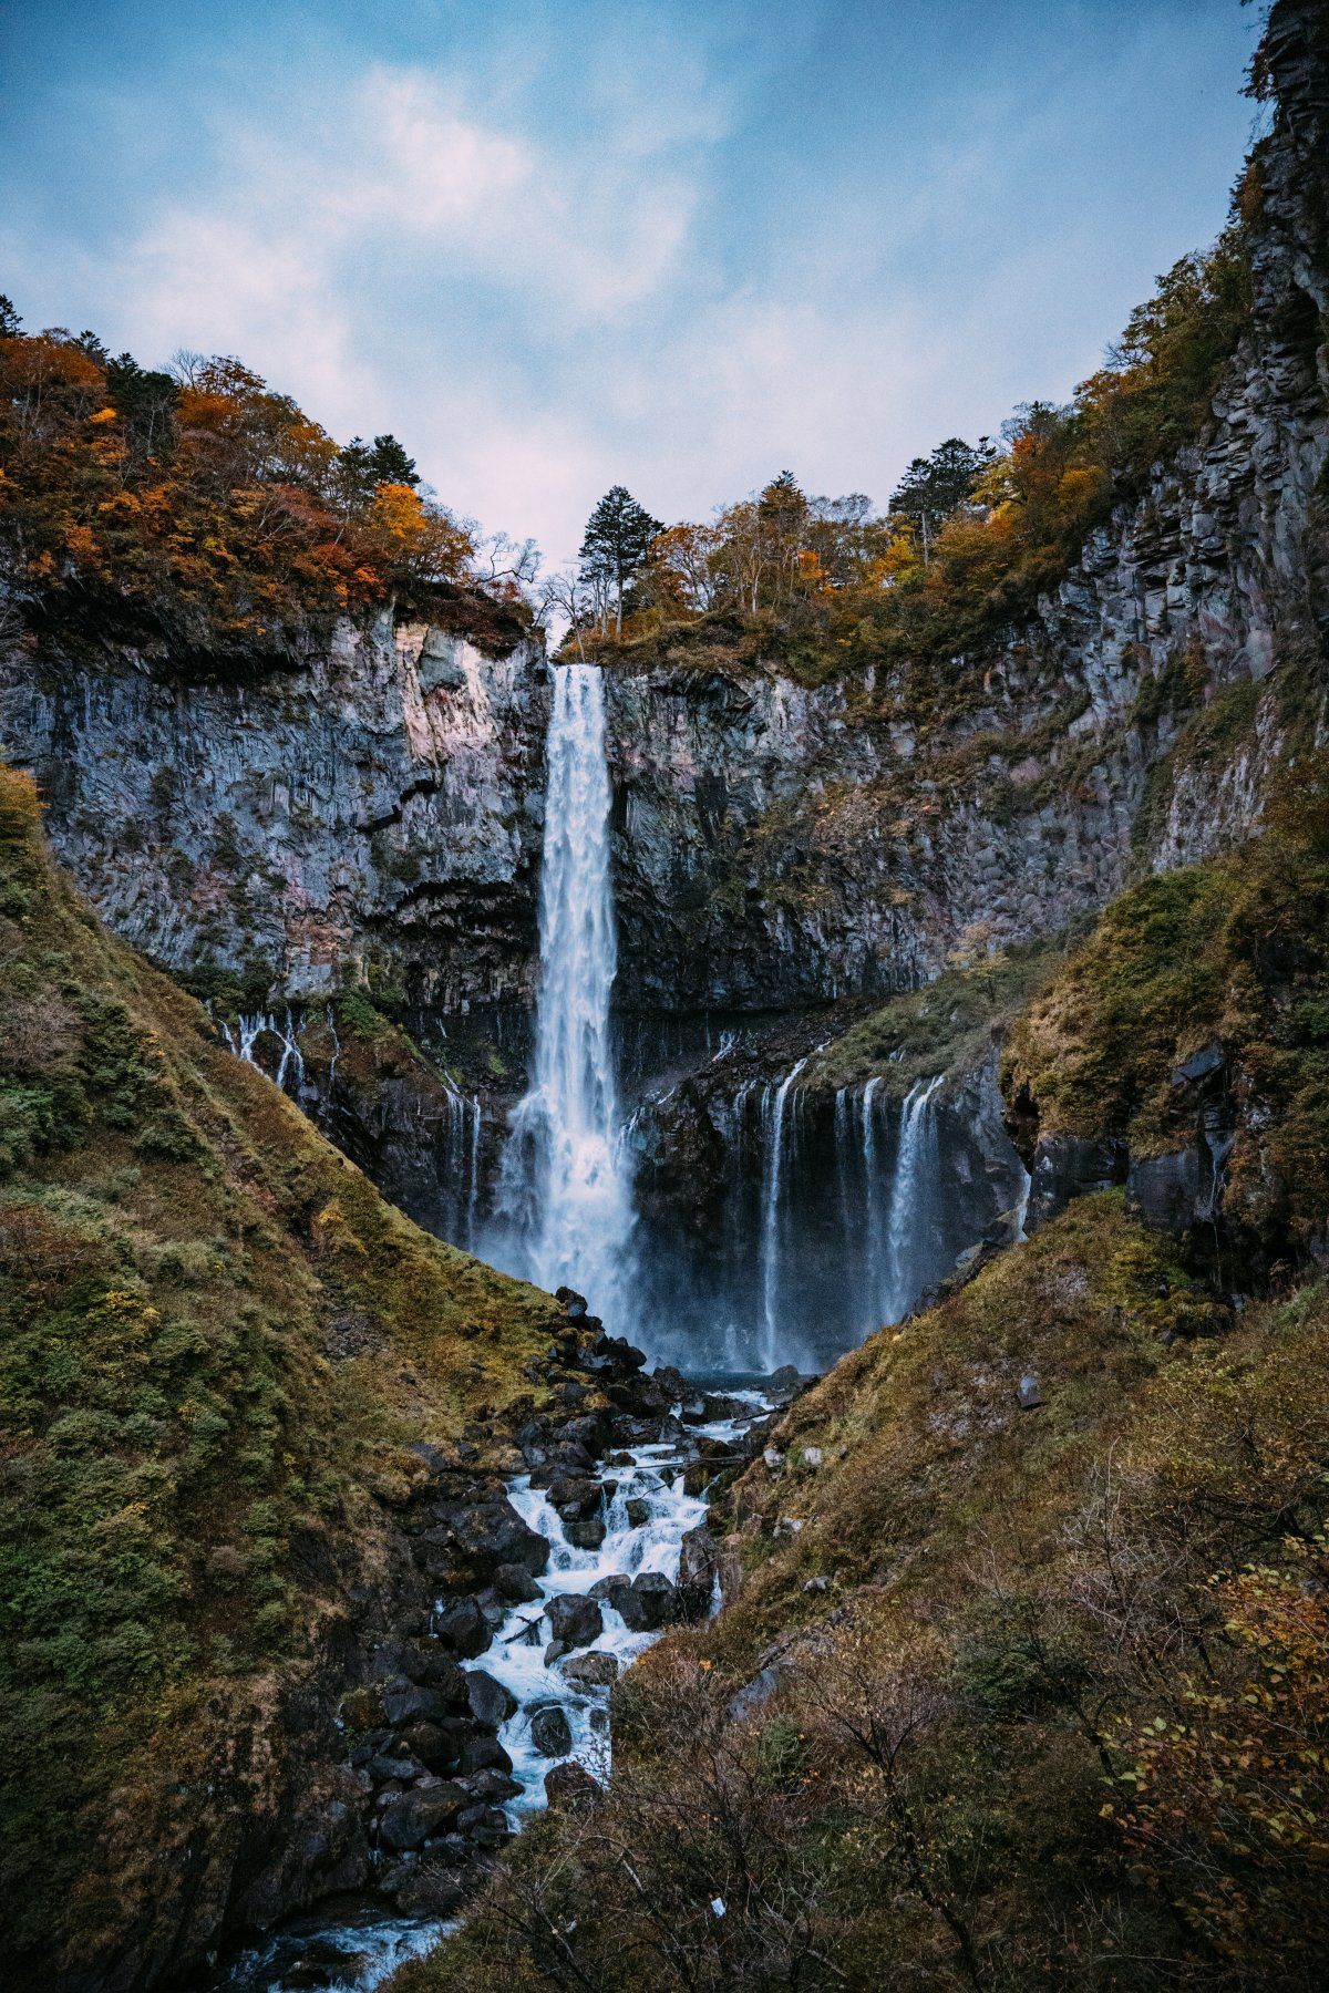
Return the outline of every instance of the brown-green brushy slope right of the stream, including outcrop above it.
<path id="1" fill-rule="evenodd" d="M 1289 1260 L 1329 1218 L 1329 955 L 1299 773 L 1016 1020 L 1024 1112 L 1116 1132 L 1132 1188 L 793 1405 L 713 1511 L 725 1610 L 620 1690 L 608 1790 L 402 1993 L 1319 1985 L 1329 1299 Z M 1207 1152 L 1205 1082 L 1233 1210 L 1162 1230 L 1136 1158 Z M 1215 1293 L 1219 1234 L 1273 1297 Z"/>

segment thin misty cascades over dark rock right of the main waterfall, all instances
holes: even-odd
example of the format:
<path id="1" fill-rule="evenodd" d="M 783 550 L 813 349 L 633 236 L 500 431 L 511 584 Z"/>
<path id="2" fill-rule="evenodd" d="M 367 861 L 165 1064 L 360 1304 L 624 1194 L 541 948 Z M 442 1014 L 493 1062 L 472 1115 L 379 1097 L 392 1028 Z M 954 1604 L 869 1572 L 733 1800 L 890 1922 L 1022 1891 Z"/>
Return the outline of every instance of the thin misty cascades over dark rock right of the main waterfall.
<path id="1" fill-rule="evenodd" d="M 881 1076 L 829 1092 L 801 1072 L 711 1102 L 715 1196 L 681 1218 L 675 1164 L 638 1112 L 638 1339 L 681 1369 L 825 1371 L 952 1272 L 1002 1212 L 1022 1166 L 992 1170 L 940 1082 L 893 1096 Z"/>

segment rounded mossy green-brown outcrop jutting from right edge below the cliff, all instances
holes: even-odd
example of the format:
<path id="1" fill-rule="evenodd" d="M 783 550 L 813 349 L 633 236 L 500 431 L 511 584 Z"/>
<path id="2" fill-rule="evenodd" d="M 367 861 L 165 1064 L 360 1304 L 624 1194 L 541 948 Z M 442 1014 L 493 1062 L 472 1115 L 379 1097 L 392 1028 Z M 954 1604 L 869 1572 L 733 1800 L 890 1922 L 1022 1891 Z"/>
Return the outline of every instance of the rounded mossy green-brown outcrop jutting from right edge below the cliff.
<path id="1" fill-rule="evenodd" d="M 1042 1132 L 1194 1138 L 1172 1074 L 1209 1042 L 1237 1098 L 1229 1220 L 1305 1248 L 1329 1208 L 1329 767 L 1297 761 L 1265 835 L 1146 879 L 1016 1024 L 1002 1084 Z"/>

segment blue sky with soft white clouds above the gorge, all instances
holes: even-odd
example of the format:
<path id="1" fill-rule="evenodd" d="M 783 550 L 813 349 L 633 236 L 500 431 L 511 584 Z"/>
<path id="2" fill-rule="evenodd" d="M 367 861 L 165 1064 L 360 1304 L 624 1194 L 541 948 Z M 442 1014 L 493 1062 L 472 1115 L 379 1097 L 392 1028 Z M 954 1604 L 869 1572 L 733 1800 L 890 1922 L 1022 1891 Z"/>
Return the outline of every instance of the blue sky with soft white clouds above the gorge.
<path id="1" fill-rule="evenodd" d="M 1237 0 L 0 0 L 0 291 L 576 554 L 1066 399 L 1253 132 Z"/>

